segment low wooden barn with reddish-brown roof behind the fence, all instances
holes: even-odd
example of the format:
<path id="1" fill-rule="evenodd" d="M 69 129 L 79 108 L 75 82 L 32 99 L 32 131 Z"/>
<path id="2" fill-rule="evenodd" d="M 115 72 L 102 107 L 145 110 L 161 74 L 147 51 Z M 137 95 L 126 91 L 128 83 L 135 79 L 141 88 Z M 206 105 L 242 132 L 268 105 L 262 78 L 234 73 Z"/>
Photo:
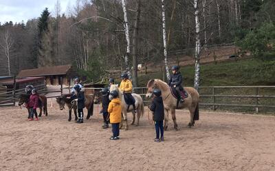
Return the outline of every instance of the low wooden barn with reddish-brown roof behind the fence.
<path id="1" fill-rule="evenodd" d="M 45 77 L 47 85 L 69 86 L 69 82 L 76 77 L 71 65 L 47 66 L 28 70 L 21 70 L 18 77 Z"/>

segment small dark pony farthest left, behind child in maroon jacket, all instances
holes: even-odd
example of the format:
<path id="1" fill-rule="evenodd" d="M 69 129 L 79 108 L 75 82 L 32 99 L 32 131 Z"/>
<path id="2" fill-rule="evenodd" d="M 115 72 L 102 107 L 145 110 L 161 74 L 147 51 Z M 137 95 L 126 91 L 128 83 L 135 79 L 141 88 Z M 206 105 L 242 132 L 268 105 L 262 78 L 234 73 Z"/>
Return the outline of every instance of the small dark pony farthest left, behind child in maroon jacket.
<path id="1" fill-rule="evenodd" d="M 18 105 L 21 107 L 23 103 L 28 103 L 30 100 L 30 94 L 19 94 L 19 102 Z M 43 113 L 45 116 L 47 116 L 47 97 L 43 95 L 39 95 L 39 117 L 42 115 L 42 108 Z M 30 113 L 30 109 L 28 109 L 28 112 Z"/>

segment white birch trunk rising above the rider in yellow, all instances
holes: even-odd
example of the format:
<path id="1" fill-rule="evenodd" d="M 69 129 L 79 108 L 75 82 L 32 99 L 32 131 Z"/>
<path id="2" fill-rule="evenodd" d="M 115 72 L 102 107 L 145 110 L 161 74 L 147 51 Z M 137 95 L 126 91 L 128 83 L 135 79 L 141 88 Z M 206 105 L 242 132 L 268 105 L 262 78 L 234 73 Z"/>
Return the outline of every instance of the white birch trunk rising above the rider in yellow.
<path id="1" fill-rule="evenodd" d="M 128 73 L 129 78 L 131 78 L 131 71 L 130 71 L 130 66 L 129 66 L 129 55 L 130 55 L 129 25 L 128 25 L 125 0 L 121 0 L 121 2 L 122 2 L 123 13 L 124 13 L 124 30 L 125 30 L 125 37 L 126 37 L 126 42 L 127 42 L 127 48 L 126 48 L 126 54 L 125 54 L 125 65 L 126 65 L 126 72 Z"/>

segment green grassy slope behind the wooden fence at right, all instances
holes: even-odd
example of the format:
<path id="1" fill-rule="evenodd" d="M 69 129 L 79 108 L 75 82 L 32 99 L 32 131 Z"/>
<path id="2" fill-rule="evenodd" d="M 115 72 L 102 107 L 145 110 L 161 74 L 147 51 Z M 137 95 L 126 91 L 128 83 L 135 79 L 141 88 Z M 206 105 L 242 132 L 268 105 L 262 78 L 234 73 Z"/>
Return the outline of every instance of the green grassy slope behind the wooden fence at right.
<path id="1" fill-rule="evenodd" d="M 184 86 L 193 86 L 195 66 L 182 66 Z M 141 75 L 139 86 L 146 86 L 149 79 L 162 79 L 163 73 L 157 71 Z M 201 65 L 200 86 L 267 86 L 275 85 L 275 60 L 255 59 L 221 62 Z"/>

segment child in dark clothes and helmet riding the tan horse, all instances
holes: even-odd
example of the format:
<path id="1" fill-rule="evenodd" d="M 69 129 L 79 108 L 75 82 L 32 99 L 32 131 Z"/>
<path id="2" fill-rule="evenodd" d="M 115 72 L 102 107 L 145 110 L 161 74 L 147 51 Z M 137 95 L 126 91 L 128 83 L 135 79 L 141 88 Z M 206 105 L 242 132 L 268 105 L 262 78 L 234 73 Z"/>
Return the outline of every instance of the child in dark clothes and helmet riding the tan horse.
<path id="1" fill-rule="evenodd" d="M 182 94 L 182 91 L 184 90 L 184 88 L 181 87 L 181 83 L 183 79 L 182 79 L 181 73 L 179 72 L 179 66 L 173 66 L 172 72 L 173 72 L 173 75 L 170 76 L 168 85 L 172 88 L 175 88 L 179 96 L 179 101 L 181 103 L 184 103 L 184 95 Z"/>

